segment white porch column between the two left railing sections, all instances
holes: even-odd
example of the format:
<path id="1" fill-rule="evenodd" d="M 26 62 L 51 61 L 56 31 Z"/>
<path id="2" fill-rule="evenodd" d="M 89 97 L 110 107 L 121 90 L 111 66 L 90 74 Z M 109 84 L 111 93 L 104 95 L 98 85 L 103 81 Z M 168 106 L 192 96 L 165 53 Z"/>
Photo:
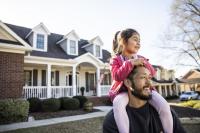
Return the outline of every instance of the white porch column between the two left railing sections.
<path id="1" fill-rule="evenodd" d="M 47 98 L 51 97 L 51 64 L 47 64 Z"/>

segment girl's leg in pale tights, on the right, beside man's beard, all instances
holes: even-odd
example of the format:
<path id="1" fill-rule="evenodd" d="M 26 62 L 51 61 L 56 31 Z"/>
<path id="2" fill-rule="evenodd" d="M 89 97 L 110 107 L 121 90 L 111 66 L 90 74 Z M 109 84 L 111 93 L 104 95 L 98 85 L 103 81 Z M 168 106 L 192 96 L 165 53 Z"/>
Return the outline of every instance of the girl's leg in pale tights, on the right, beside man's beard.
<path id="1" fill-rule="evenodd" d="M 173 118 L 168 102 L 156 91 L 152 91 L 149 103 L 157 110 L 165 133 L 173 133 Z"/>

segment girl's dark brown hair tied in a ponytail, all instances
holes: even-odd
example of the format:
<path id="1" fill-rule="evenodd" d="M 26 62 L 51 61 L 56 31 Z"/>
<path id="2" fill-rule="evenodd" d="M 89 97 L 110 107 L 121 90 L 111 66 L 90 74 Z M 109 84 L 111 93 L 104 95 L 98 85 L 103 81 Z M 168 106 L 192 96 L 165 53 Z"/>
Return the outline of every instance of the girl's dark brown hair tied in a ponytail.
<path id="1" fill-rule="evenodd" d="M 125 29 L 122 31 L 117 31 L 115 33 L 114 39 L 113 39 L 113 53 L 114 55 L 121 54 L 123 45 L 127 44 L 128 39 L 132 37 L 132 35 L 137 34 L 140 35 L 136 30 L 134 29 Z"/>

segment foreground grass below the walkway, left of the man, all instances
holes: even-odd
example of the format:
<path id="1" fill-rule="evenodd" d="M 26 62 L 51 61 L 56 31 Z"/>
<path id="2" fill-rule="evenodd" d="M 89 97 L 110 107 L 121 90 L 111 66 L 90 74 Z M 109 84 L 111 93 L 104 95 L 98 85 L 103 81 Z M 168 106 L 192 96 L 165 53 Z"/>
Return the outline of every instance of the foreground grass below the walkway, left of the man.
<path id="1" fill-rule="evenodd" d="M 65 122 L 61 124 L 18 129 L 5 133 L 102 133 L 104 117 Z"/>

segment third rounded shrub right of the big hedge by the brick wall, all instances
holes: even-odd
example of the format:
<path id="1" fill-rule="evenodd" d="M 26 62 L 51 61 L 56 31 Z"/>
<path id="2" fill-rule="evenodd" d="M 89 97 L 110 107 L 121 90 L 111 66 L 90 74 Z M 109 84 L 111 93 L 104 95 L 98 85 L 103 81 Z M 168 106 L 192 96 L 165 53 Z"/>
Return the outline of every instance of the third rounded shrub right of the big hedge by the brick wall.
<path id="1" fill-rule="evenodd" d="M 76 110 L 80 107 L 80 102 L 76 98 L 63 99 L 63 109 Z"/>

